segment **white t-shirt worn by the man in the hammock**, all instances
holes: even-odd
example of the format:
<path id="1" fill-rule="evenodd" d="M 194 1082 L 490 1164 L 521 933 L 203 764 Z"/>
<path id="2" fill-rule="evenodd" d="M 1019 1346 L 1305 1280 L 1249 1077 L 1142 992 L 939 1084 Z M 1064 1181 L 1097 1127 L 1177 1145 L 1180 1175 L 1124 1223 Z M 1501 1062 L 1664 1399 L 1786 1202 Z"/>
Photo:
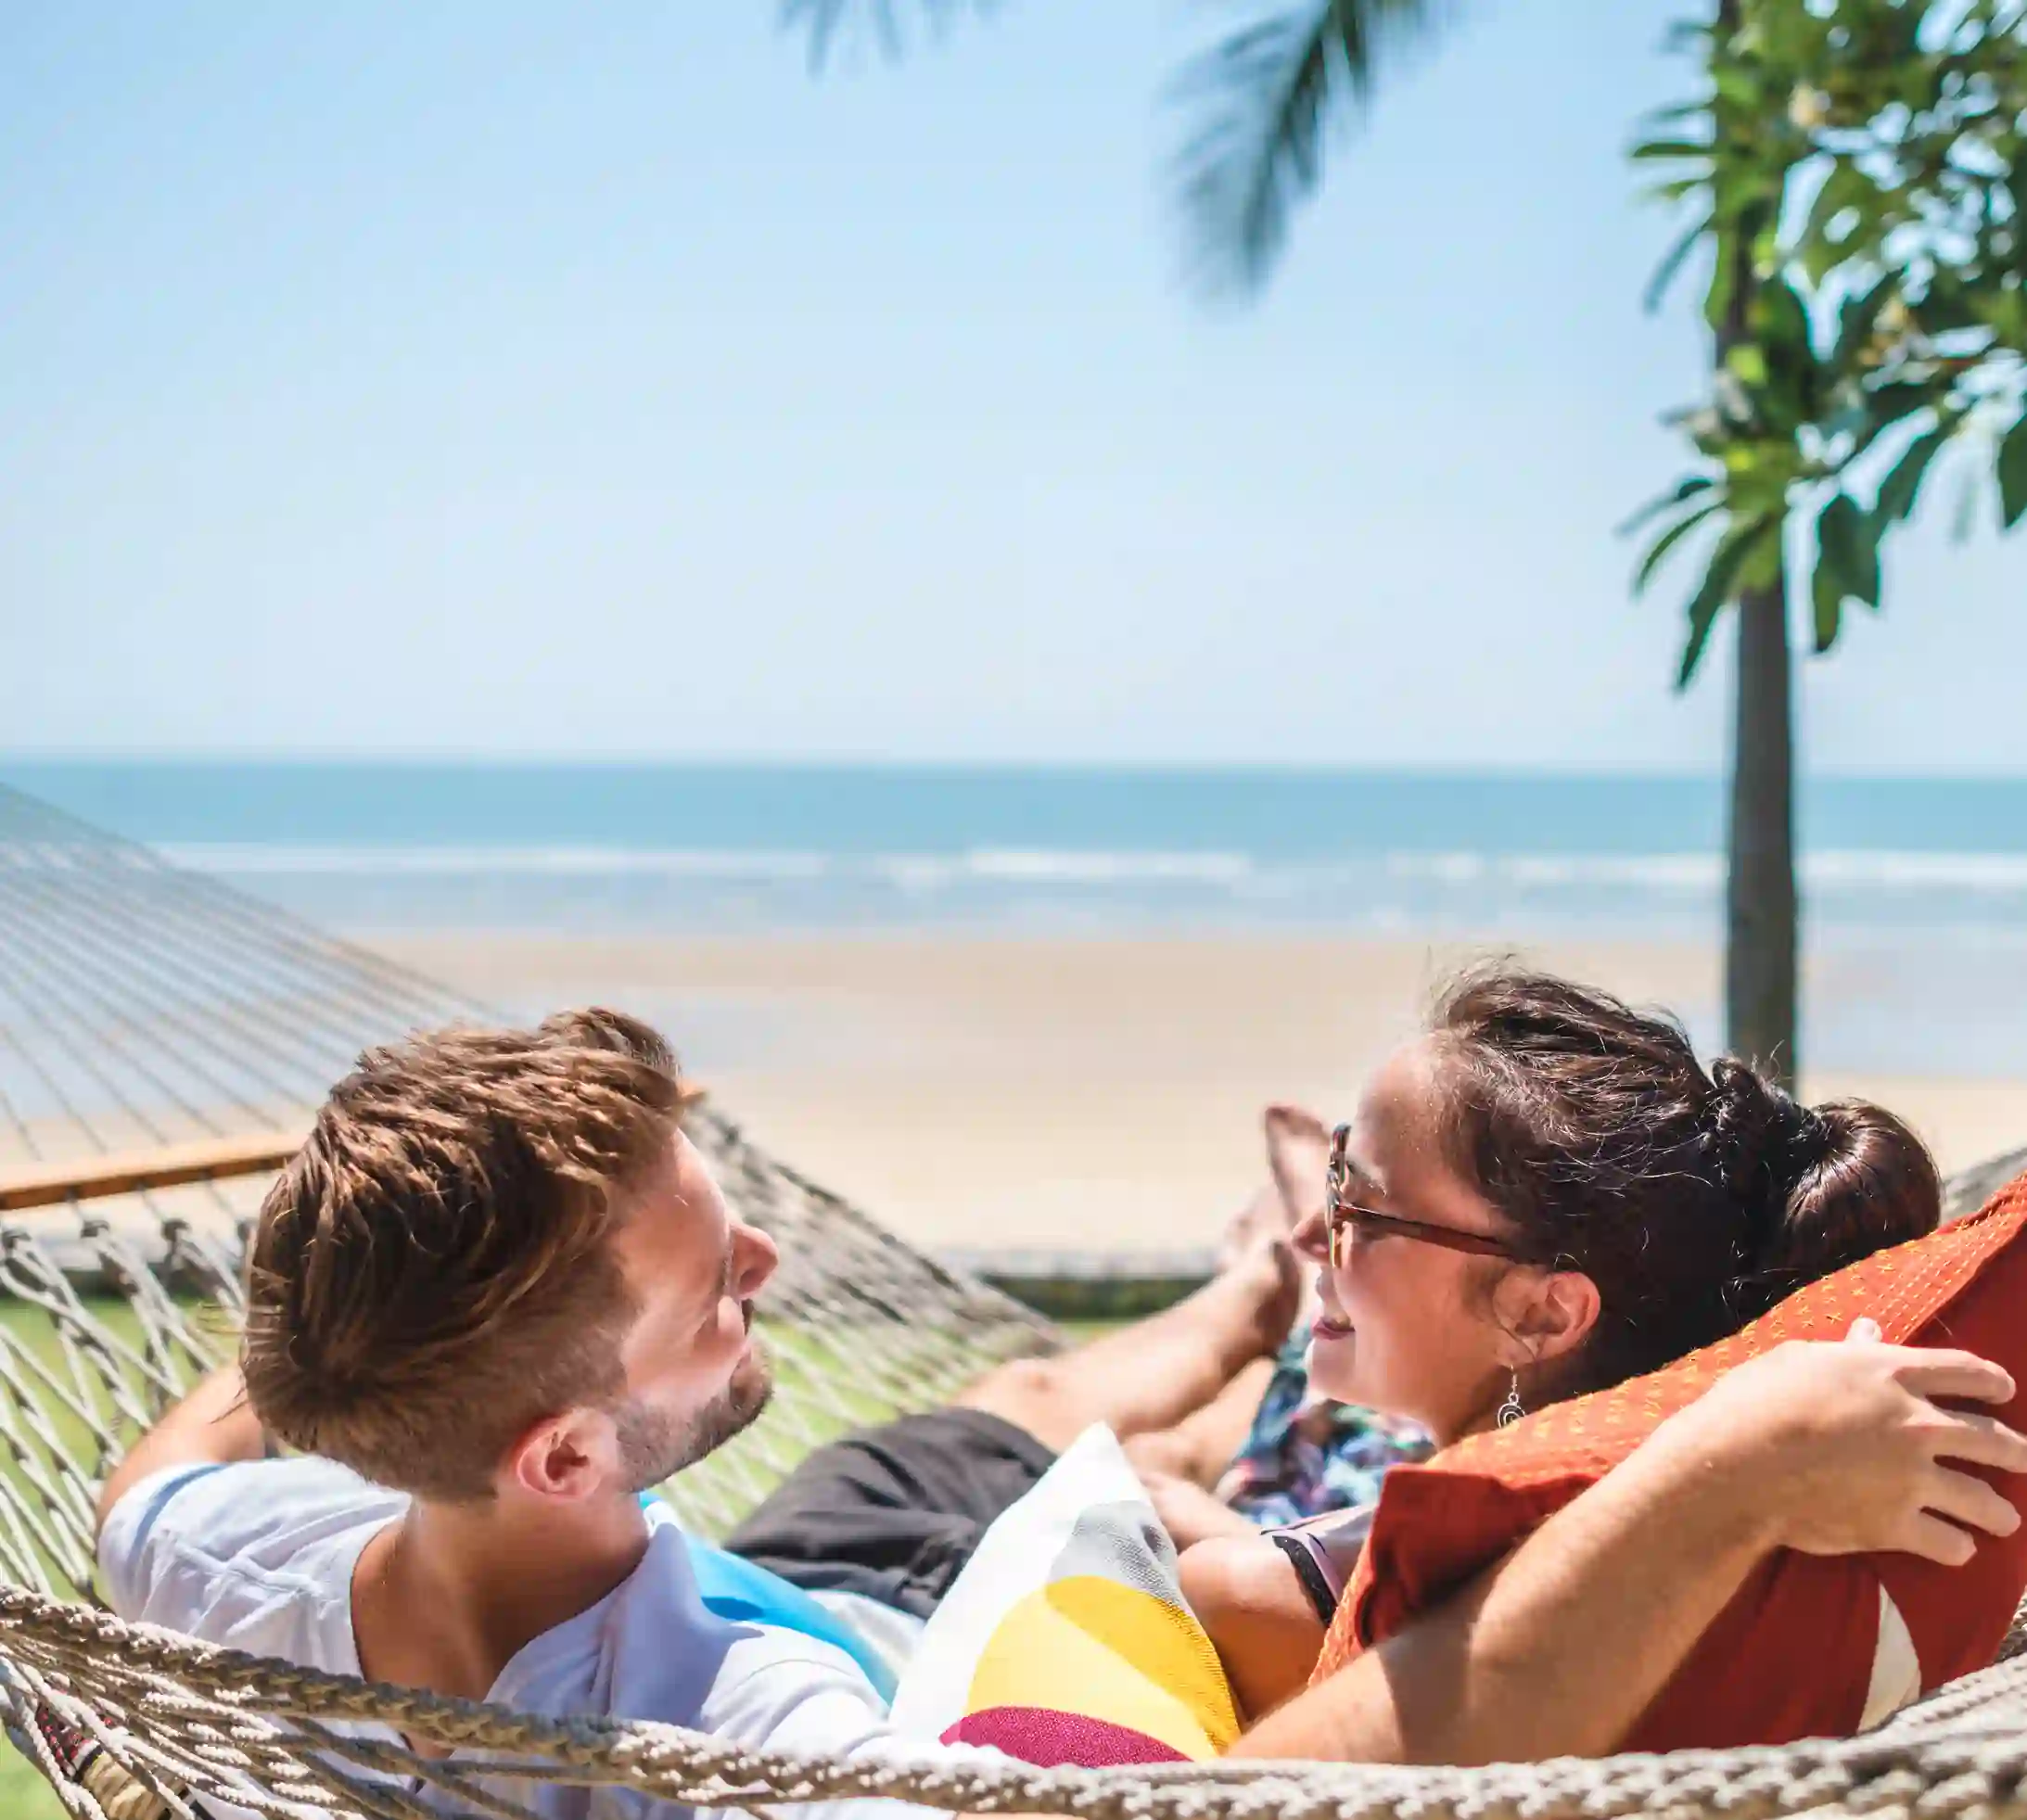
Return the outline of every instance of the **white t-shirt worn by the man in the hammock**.
<path id="1" fill-rule="evenodd" d="M 365 1544 L 405 1508 L 405 1496 L 324 1459 L 172 1467 L 142 1480 L 114 1506 L 99 1536 L 99 1567 L 126 1619 L 304 1668 L 359 1674 L 353 1569 Z M 673 1514 L 653 1506 L 647 1522 L 641 1565 L 596 1605 L 525 1644 L 493 1682 L 489 1700 L 553 1717 L 653 1719 L 752 1749 L 924 1755 L 922 1745 L 896 1739 L 886 1704 L 841 1650 L 705 1609 Z M 395 1737 L 379 1725 L 334 1729 Z M 507 1779 L 495 1792 L 543 1820 L 679 1820 L 691 1812 L 622 1788 Z M 918 1810 L 833 1802 L 793 1812 L 872 1820 Z"/>

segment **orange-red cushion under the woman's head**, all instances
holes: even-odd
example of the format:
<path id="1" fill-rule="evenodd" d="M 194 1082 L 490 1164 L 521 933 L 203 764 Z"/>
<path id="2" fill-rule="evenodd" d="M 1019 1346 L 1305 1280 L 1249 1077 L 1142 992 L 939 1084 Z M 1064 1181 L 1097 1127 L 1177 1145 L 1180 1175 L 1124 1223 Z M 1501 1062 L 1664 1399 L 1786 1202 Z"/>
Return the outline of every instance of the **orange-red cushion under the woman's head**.
<path id="1" fill-rule="evenodd" d="M 1897 1346 L 1960 1346 L 2027 1384 L 2027 1176 L 1978 1214 L 1875 1253 L 1796 1291 L 1749 1328 L 1611 1390 L 1579 1396 L 1427 1465 L 1386 1475 L 1372 1536 L 1344 1591 L 1316 1678 L 1384 1642 L 1498 1561 L 1626 1459 L 1735 1364 L 1784 1340 L 1841 1340 L 1859 1315 Z M 2023 1400 L 2003 1411 L 2023 1427 Z M 1999 1480 L 2027 1510 L 2027 1482 Z M 1922 1690 L 1986 1666 L 2027 1587 L 2027 1524 L 1984 1538 L 1968 1567 L 1913 1554 L 1820 1559 L 1780 1550 L 1747 1579 L 1646 1711 L 1630 1751 L 1836 1737 L 1867 1711 L 1881 1591 L 1905 1619 Z M 1599 1613 L 1599 1621 L 1609 1621 Z"/>

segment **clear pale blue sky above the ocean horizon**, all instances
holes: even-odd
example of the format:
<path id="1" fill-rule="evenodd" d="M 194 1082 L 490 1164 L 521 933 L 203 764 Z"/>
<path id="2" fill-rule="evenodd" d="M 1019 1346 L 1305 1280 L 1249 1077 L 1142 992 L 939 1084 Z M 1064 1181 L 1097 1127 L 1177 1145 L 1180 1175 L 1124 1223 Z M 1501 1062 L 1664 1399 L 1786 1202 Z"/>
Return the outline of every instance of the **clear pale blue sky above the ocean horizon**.
<path id="1" fill-rule="evenodd" d="M 1668 8 L 1466 12 L 1232 312 L 1216 6 L 6 8 L 0 748 L 1715 766 L 1613 537 Z M 1812 762 L 2027 770 L 2023 582 L 1924 527 Z"/>

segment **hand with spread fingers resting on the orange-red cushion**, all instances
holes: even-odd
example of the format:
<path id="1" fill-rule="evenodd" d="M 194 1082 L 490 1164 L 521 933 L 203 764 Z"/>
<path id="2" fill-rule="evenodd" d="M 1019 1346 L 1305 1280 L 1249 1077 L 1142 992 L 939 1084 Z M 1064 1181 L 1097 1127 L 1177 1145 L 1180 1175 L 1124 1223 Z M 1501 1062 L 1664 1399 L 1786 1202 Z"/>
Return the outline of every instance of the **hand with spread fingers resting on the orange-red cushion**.
<path id="1" fill-rule="evenodd" d="M 1980 1534 L 2021 1526 L 2019 1510 L 1968 1471 L 2027 1471 L 2027 1437 L 1988 1413 L 2013 1396 L 2011 1374 L 1988 1360 L 1883 1346 L 1859 1321 L 1841 1344 L 1790 1340 L 1727 1372 L 1650 1445 L 1749 1473 L 1770 1546 L 1901 1550 L 1960 1567 Z"/>

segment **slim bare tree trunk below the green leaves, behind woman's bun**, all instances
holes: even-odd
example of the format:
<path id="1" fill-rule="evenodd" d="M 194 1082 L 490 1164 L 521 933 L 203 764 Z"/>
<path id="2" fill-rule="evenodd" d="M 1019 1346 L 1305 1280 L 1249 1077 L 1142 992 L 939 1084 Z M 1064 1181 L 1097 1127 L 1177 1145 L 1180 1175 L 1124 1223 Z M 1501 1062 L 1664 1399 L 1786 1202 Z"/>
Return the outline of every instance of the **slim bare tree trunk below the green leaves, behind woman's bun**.
<path id="1" fill-rule="evenodd" d="M 1796 1076 L 1794 659 L 1788 588 L 1739 596 L 1725 892 L 1725 1030 L 1733 1054 L 1782 1086 Z"/>

